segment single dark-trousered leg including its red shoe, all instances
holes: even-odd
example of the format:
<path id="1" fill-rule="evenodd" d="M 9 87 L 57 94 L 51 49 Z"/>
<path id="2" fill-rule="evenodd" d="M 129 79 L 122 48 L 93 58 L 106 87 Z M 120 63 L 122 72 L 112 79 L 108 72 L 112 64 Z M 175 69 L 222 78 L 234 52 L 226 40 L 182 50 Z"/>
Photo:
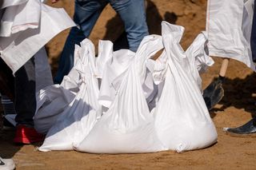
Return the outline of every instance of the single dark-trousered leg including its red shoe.
<path id="1" fill-rule="evenodd" d="M 42 141 L 44 136 L 34 129 L 34 113 L 36 110 L 36 84 L 34 57 L 30 58 L 15 73 L 15 110 L 17 116 L 15 143 L 32 144 Z"/>

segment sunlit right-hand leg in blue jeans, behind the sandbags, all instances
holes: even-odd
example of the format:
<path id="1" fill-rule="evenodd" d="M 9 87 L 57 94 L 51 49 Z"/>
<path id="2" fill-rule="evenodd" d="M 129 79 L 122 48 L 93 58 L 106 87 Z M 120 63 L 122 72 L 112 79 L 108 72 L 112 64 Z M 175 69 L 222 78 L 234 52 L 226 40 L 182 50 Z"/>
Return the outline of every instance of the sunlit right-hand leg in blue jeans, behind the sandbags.
<path id="1" fill-rule="evenodd" d="M 144 0 L 109 0 L 125 25 L 129 49 L 136 51 L 142 39 L 148 35 Z"/>

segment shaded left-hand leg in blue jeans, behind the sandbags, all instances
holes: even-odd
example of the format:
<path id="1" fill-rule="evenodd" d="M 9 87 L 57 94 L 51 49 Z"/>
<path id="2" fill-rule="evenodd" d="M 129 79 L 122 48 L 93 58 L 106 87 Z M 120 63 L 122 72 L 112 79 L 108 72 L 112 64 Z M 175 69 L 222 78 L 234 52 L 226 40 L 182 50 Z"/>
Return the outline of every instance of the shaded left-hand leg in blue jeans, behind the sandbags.
<path id="1" fill-rule="evenodd" d="M 88 38 L 91 30 L 106 6 L 104 0 L 76 0 L 74 6 L 74 22 L 78 27 L 70 30 L 68 38 L 60 57 L 58 72 L 54 78 L 55 84 L 60 84 L 65 75 L 70 72 L 74 65 L 74 45 Z"/>

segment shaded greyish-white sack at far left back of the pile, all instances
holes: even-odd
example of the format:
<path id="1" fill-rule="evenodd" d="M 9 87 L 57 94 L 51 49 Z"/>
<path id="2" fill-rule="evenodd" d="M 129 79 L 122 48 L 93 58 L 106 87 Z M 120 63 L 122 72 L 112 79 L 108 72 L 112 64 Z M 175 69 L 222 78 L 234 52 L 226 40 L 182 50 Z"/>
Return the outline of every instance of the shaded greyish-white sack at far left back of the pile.
<path id="1" fill-rule="evenodd" d="M 81 47 L 75 45 L 74 67 L 63 78 L 62 84 L 48 86 L 38 93 L 37 111 L 34 114 L 34 127 L 38 132 L 46 134 L 58 117 L 70 112 L 70 105 L 73 105 L 81 84 L 79 68 L 82 67 L 82 63 L 79 59 L 79 50 Z"/>

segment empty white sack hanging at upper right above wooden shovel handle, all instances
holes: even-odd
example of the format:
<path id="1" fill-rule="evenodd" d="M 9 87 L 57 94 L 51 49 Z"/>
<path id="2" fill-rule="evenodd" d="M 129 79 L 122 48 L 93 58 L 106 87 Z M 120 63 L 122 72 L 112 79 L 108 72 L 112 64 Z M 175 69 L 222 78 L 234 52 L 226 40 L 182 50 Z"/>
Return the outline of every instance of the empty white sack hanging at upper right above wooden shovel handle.
<path id="1" fill-rule="evenodd" d="M 255 71 L 250 49 L 254 0 L 208 0 L 209 53 L 242 61 Z"/>

